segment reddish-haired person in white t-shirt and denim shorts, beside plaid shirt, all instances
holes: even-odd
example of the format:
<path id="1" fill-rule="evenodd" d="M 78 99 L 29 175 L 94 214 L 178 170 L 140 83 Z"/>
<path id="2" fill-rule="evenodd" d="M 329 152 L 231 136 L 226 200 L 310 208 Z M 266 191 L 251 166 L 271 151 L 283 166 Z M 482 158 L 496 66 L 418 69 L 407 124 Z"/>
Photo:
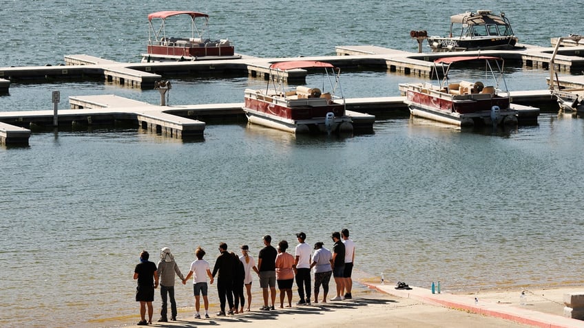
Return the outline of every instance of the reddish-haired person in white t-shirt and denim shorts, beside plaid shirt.
<path id="1" fill-rule="evenodd" d="M 209 318 L 209 298 L 207 298 L 207 292 L 209 291 L 207 285 L 207 276 L 211 283 L 213 283 L 213 276 L 211 275 L 211 268 L 209 267 L 209 262 L 202 259 L 205 256 L 205 250 L 203 250 L 200 246 L 195 251 L 195 256 L 197 259 L 191 263 L 191 270 L 185 280 L 183 280 L 183 284 L 187 283 L 187 280 L 193 276 L 193 294 L 195 296 L 195 309 L 196 314 L 195 318 L 200 319 L 200 295 L 202 294 L 202 300 L 205 304 L 205 318 Z"/>

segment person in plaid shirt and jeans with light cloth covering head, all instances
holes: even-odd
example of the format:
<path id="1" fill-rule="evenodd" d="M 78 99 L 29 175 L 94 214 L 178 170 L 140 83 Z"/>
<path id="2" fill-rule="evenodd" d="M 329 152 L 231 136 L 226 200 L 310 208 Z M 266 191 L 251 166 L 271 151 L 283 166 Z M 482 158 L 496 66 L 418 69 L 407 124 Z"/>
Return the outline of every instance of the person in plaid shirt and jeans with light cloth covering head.
<path id="1" fill-rule="evenodd" d="M 176 321 L 176 300 L 174 299 L 174 274 L 176 274 L 180 281 L 184 281 L 185 277 L 180 273 L 178 264 L 174 261 L 174 255 L 170 252 L 170 248 L 163 248 L 160 250 L 160 261 L 158 261 L 158 276 L 160 277 L 160 319 L 159 322 L 168 321 L 167 298 L 170 298 L 170 319 Z"/>

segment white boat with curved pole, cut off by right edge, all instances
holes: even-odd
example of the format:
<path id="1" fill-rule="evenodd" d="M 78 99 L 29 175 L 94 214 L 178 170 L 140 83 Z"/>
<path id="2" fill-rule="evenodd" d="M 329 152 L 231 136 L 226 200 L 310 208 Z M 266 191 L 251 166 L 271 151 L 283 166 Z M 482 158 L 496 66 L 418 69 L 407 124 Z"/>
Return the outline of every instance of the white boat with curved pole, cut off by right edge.
<path id="1" fill-rule="evenodd" d="M 550 92 L 556 98 L 560 111 L 570 113 L 584 113 L 584 88 L 565 88 L 560 85 L 558 73 L 556 69 L 556 56 L 560 47 L 565 47 L 565 44 L 579 44 L 584 40 L 583 36 L 577 34 L 570 34 L 570 36 L 563 36 L 556 39 L 554 45 L 554 52 L 550 58 Z"/>

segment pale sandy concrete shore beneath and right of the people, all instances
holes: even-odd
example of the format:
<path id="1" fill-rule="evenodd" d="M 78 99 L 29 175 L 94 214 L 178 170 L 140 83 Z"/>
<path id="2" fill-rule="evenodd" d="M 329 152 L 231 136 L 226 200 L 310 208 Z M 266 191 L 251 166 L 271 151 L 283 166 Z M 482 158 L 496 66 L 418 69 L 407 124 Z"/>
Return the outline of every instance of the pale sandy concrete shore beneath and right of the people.
<path id="1" fill-rule="evenodd" d="M 227 317 L 194 319 L 193 309 L 181 309 L 176 322 L 156 322 L 156 327 L 584 327 L 584 321 L 563 318 L 563 294 L 578 292 L 578 288 L 534 289 L 526 292 L 527 304 L 519 304 L 521 291 L 490 291 L 477 294 L 432 295 L 428 289 L 395 290 L 393 285 L 370 285 L 355 288 L 352 300 L 313 303 L 311 306 L 293 306 L 289 309 L 260 311 L 259 305 L 251 312 Z M 474 298 L 478 299 L 474 303 Z M 441 304 L 448 303 L 448 304 Z M 277 305 L 278 306 L 278 305 Z M 501 317 L 498 314 L 505 314 Z M 534 321 L 535 320 L 535 321 Z M 543 321 L 539 325 L 536 321 Z M 138 322 L 138 316 L 134 322 Z M 130 325 L 132 326 L 132 325 Z M 139 327 L 139 326 L 136 326 Z"/>

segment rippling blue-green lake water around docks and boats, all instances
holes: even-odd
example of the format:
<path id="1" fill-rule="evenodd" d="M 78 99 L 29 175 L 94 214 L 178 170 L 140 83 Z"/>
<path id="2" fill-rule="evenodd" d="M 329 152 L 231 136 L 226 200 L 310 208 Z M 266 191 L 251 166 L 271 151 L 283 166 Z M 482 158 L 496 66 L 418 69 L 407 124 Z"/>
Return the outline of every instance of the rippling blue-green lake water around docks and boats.
<path id="1" fill-rule="evenodd" d="M 32 6 L 31 5 L 34 5 Z M 357 6 L 358 5 L 358 6 Z M 504 10 L 522 43 L 550 45 L 574 31 L 567 1 L 4 1 L 0 67 L 57 65 L 66 54 L 140 60 L 147 14 L 198 10 L 211 32 L 242 54 L 333 55 L 336 45 L 416 51 L 410 30 L 445 34 L 450 14 Z M 545 24 L 541 23 L 545 22 Z M 509 67 L 512 90 L 545 89 L 546 71 Z M 310 81 L 312 76 L 309 76 Z M 347 97 L 397 96 L 414 77 L 345 72 Z M 171 104 L 242 102 L 247 76 L 172 80 Z M 51 91 L 116 94 L 157 103 L 156 90 L 86 83 L 19 84 L 0 111 L 52 109 Z M 135 127 L 34 133 L 0 149 L 0 326 L 102 327 L 135 322 L 132 274 L 141 250 L 170 247 L 183 272 L 198 245 L 261 238 L 331 246 L 349 228 L 355 269 L 367 281 L 406 281 L 445 291 L 581 286 L 584 233 L 578 174 L 583 120 L 543 113 L 507 131 L 459 131 L 407 117 L 379 117 L 375 133 L 300 138 L 246 124 L 209 124 L 182 142 Z M 257 285 L 254 289 L 257 288 Z M 211 296 L 216 294 L 211 288 Z M 179 285 L 180 307 L 191 288 Z M 155 300 L 158 312 L 159 296 Z M 259 304 L 256 297 L 254 304 Z M 217 303 L 216 298 L 211 302 Z M 158 318 L 156 314 L 155 318 Z"/>

